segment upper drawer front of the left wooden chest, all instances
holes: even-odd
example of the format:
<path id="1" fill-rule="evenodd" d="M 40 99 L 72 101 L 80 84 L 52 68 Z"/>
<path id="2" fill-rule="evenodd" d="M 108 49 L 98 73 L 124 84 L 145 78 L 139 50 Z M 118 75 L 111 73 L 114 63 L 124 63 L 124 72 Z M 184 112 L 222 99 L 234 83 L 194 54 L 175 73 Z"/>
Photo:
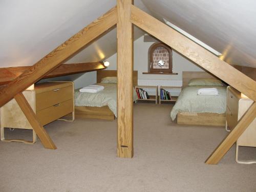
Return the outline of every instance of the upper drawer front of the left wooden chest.
<path id="1" fill-rule="evenodd" d="M 73 86 L 36 94 L 36 111 L 73 99 Z"/>

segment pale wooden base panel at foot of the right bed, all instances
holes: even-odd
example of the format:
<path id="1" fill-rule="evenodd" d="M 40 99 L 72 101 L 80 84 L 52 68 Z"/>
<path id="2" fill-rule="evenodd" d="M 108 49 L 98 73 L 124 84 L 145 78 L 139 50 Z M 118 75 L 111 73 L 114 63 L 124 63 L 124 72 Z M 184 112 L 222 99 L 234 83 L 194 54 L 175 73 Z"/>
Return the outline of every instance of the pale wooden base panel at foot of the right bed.
<path id="1" fill-rule="evenodd" d="M 188 125 L 225 126 L 226 114 L 183 112 L 178 113 L 177 123 Z"/>

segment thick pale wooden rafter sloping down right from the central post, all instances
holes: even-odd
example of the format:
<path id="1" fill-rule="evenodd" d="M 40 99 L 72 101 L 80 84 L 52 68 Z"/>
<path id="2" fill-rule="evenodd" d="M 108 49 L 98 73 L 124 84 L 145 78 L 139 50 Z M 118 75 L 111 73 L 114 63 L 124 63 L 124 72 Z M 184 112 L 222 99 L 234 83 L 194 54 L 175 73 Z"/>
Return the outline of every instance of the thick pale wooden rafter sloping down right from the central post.
<path id="1" fill-rule="evenodd" d="M 256 81 L 196 44 L 196 42 L 135 6 L 132 6 L 131 20 L 134 25 L 158 38 L 205 70 L 224 80 L 233 88 L 256 101 Z"/>

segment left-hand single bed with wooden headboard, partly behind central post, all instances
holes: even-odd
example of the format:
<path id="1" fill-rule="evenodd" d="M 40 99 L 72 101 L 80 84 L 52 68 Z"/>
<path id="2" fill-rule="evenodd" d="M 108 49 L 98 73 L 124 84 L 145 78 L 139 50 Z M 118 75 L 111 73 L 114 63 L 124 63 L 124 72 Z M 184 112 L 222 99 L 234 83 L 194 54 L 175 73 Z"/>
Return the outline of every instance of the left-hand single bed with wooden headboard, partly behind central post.
<path id="1" fill-rule="evenodd" d="M 114 120 L 117 116 L 117 84 L 100 83 L 102 78 L 116 77 L 116 70 L 97 71 L 97 84 L 104 86 L 98 93 L 80 93 L 75 90 L 75 116 L 80 118 Z M 138 71 L 133 72 L 133 86 L 138 84 Z M 137 94 L 134 92 L 134 100 Z"/>

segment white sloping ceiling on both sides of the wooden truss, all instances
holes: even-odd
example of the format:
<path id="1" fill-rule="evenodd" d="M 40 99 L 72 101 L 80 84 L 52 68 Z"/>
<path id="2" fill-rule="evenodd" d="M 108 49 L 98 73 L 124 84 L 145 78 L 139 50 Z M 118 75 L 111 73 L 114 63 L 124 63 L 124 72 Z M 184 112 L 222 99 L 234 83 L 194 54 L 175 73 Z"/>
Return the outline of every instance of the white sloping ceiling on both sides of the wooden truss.
<path id="1" fill-rule="evenodd" d="M 143 2 L 143 3 L 142 3 Z M 116 5 L 116 0 L 1 0 L 0 67 L 29 66 Z M 223 54 L 256 67 L 256 1 L 135 0 Z M 142 35 L 135 30 L 135 37 Z M 116 52 L 115 29 L 67 62 L 99 61 Z"/>

